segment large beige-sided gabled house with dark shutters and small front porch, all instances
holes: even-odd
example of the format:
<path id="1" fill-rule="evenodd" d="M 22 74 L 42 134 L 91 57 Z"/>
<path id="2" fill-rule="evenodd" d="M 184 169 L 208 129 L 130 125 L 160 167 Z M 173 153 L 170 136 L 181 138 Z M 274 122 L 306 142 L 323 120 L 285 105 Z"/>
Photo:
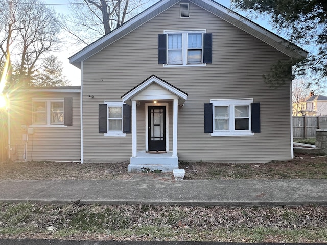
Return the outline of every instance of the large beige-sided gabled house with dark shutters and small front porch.
<path id="1" fill-rule="evenodd" d="M 306 56 L 214 1 L 161 0 L 69 58 L 82 72 L 79 91 L 24 93 L 34 120 L 23 124 L 34 141 L 27 156 L 33 148 L 35 160 L 130 161 L 130 171 L 291 159 L 291 81 L 271 89 L 263 74 Z M 52 114 L 55 98 L 61 104 Z M 39 110 L 43 99 L 49 108 Z M 45 111 L 60 127 L 38 125 Z M 21 141 L 19 128 L 11 132 Z"/>

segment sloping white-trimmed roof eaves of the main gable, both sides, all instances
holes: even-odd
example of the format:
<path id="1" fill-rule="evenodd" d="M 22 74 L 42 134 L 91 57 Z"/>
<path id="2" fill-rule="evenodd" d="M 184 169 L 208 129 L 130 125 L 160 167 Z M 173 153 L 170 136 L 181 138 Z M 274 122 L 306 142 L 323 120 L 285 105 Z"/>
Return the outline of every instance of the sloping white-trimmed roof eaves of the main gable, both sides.
<path id="1" fill-rule="evenodd" d="M 164 12 L 165 10 L 167 10 L 178 2 L 180 2 L 180 0 L 160 0 L 148 9 L 144 10 L 142 13 L 139 13 L 130 20 L 126 21 L 119 28 L 114 29 L 112 32 L 101 37 L 100 39 L 83 48 L 81 51 L 69 57 L 69 62 L 74 66 L 81 68 L 82 61 L 100 52 L 101 50 L 103 50 L 103 48 L 119 40 L 123 36 L 138 28 L 139 26 L 142 26 L 142 24 L 161 14 L 162 12 Z M 267 29 L 259 26 L 253 21 L 243 17 L 242 15 L 232 11 L 231 9 L 213 0 L 188 0 L 183 2 L 193 3 L 207 10 L 208 12 L 227 21 L 233 26 L 238 27 L 239 29 L 276 48 L 276 50 L 286 54 L 292 59 L 302 60 L 307 57 L 308 52 L 306 52 L 302 48 L 290 43 L 282 37 L 279 37 L 278 35 L 268 31 Z"/>

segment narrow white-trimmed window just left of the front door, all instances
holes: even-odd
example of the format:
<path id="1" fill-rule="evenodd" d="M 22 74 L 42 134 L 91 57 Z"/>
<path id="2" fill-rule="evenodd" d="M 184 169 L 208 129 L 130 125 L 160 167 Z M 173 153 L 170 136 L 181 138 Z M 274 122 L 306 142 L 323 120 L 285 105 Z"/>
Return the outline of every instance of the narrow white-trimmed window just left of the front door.
<path id="1" fill-rule="evenodd" d="M 125 137 L 123 133 L 123 102 L 105 101 L 107 104 L 107 133 L 104 136 Z"/>

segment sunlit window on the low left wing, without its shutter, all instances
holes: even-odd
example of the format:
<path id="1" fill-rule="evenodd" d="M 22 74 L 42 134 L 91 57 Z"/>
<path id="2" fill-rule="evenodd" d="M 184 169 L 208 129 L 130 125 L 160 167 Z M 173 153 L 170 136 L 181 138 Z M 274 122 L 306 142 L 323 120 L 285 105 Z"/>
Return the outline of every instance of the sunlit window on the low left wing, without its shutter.
<path id="1" fill-rule="evenodd" d="M 34 126 L 64 125 L 64 99 L 33 99 L 32 124 Z"/>

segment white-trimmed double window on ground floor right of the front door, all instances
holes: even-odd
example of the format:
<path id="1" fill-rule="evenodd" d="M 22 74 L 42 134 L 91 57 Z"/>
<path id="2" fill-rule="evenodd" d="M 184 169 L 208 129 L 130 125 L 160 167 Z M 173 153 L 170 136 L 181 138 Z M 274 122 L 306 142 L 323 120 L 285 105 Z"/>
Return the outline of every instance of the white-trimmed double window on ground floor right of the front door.
<path id="1" fill-rule="evenodd" d="M 253 135 L 251 103 L 253 99 L 210 100 L 213 104 L 212 136 Z"/>

